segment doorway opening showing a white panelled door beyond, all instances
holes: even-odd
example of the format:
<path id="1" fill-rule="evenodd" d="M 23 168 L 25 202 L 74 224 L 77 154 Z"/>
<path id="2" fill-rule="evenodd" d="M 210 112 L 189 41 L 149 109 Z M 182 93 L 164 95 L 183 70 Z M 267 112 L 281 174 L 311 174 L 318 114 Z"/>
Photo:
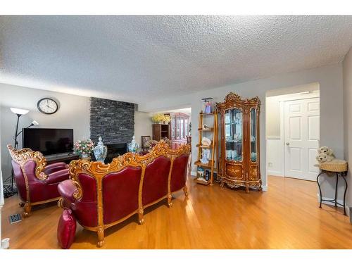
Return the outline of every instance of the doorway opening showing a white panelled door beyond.
<path id="1" fill-rule="evenodd" d="M 267 175 L 315 181 L 320 147 L 319 84 L 268 91 L 265 106 Z"/>

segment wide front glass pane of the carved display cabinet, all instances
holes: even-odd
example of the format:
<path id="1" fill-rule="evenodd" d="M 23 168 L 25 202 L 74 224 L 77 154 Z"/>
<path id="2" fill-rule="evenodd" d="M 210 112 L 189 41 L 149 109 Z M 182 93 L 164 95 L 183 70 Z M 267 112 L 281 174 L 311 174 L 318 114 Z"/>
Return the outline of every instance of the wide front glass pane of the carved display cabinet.
<path id="1" fill-rule="evenodd" d="M 225 111 L 225 158 L 242 161 L 243 113 L 241 108 Z"/>

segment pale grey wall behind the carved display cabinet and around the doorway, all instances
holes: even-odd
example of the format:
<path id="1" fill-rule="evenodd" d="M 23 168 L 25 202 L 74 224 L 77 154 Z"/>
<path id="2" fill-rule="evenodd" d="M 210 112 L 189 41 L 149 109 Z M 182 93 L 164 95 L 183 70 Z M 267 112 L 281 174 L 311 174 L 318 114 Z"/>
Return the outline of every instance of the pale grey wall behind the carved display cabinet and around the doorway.
<path id="1" fill-rule="evenodd" d="M 199 111 L 201 110 L 201 98 L 211 96 L 215 101 L 223 101 L 229 92 L 236 92 L 244 98 L 259 96 L 262 106 L 260 113 L 260 171 L 263 185 L 266 180 L 266 147 L 265 147 L 265 93 L 272 89 L 282 87 L 294 87 L 308 83 L 320 84 L 320 144 L 331 146 L 337 156 L 343 156 L 343 110 L 342 110 L 342 65 L 327 65 L 321 68 L 302 70 L 296 73 L 287 73 L 260 80 L 253 80 L 225 87 L 218 87 L 206 91 L 196 92 L 181 96 L 172 96 L 159 101 L 146 101 L 139 105 L 141 111 L 163 111 L 167 108 L 181 108 L 191 106 L 192 127 L 198 127 Z M 333 106 L 333 107 L 332 107 Z M 327 129 L 329 127 L 329 129 Z M 334 129 L 331 129 L 333 127 Z M 197 131 L 192 130 L 192 161 L 196 160 Z M 194 166 L 193 166 L 194 169 Z M 323 191 L 330 196 L 334 182 L 325 182 Z"/>

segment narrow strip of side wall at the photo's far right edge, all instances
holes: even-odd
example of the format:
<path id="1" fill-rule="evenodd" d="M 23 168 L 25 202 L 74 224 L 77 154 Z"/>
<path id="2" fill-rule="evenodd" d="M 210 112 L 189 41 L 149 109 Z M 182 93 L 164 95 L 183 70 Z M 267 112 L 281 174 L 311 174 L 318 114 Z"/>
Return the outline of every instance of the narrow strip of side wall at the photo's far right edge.
<path id="1" fill-rule="evenodd" d="M 346 54 L 343 62 L 344 80 L 344 158 L 348 162 L 347 180 L 349 189 L 347 192 L 347 205 L 352 206 L 352 48 Z"/>

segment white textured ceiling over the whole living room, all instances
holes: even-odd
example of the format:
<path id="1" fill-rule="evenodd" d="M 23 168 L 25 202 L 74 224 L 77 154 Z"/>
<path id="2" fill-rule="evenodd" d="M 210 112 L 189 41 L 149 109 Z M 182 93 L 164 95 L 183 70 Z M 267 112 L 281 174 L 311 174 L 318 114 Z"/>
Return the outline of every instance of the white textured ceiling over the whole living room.
<path id="1" fill-rule="evenodd" d="M 0 82 L 139 103 L 337 63 L 352 16 L 1 16 Z"/>

